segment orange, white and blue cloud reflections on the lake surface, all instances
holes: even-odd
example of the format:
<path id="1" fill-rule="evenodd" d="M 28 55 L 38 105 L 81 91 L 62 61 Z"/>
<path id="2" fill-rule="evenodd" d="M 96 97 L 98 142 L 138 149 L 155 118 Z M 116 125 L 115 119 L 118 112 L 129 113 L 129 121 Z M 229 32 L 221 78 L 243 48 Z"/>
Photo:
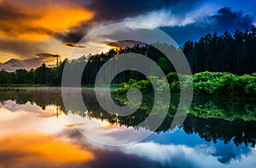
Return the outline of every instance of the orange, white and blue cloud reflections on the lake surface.
<path id="1" fill-rule="evenodd" d="M 155 138 L 122 148 L 102 146 L 83 137 L 71 125 L 67 115 L 59 118 L 42 115 L 55 114 L 55 108 L 51 105 L 43 110 L 37 104 L 15 104 L 15 101 L 0 105 L 0 167 L 251 167 L 256 164 L 255 148 L 222 142 L 202 141 L 189 145 L 179 144 L 176 140 L 172 143 L 170 132 L 155 133 Z M 103 122 L 101 126 L 113 128 L 113 132 L 90 125 L 89 119 L 75 125 L 88 126 L 97 136 L 116 142 L 125 141 L 122 137 L 127 132 L 145 132 Z M 178 137 L 187 142 L 200 138 L 185 132 Z M 160 143 L 159 138 L 169 138 L 170 142 Z"/>

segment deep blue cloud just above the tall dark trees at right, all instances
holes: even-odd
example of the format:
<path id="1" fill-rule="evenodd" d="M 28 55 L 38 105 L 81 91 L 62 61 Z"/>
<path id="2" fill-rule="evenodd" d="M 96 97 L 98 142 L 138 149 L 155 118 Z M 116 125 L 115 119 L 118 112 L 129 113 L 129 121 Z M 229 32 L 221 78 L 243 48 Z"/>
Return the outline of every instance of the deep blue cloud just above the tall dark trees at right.
<path id="1" fill-rule="evenodd" d="M 198 40 L 201 36 L 214 31 L 224 33 L 236 30 L 245 31 L 253 27 L 253 19 L 249 14 L 243 14 L 241 11 L 232 11 L 231 8 L 220 8 L 217 14 L 203 17 L 195 23 L 184 26 L 162 26 L 160 29 L 179 44 L 188 40 Z"/>

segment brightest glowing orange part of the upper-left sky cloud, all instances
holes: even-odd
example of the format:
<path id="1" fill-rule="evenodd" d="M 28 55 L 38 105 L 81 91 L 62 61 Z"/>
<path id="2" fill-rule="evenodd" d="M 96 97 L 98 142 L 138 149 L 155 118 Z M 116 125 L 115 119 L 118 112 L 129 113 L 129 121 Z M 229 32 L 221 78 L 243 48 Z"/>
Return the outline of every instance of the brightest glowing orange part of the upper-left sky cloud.
<path id="1" fill-rule="evenodd" d="M 90 20 L 93 13 L 84 8 L 36 8 L 20 9 L 28 17 L 17 20 L 0 20 L 9 31 L 0 31 L 0 36 L 25 41 L 40 41 L 56 32 L 65 31 L 83 21 Z"/>

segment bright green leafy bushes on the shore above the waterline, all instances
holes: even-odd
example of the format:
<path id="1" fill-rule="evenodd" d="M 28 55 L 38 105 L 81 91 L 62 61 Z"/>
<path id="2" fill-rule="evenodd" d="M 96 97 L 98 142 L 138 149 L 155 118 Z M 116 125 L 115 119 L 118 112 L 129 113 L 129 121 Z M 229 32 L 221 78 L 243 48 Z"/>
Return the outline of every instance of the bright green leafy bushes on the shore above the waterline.
<path id="1" fill-rule="evenodd" d="M 166 78 L 169 81 L 171 92 L 189 91 L 194 87 L 195 95 L 212 96 L 256 96 L 256 76 L 244 75 L 236 76 L 227 72 L 201 72 L 194 76 L 179 75 L 174 72 L 169 73 Z M 137 87 L 142 92 L 153 92 L 151 81 L 156 84 L 157 91 L 166 92 L 166 84 L 162 79 L 155 76 L 149 76 L 147 80 L 130 80 L 117 90 L 119 93 L 127 92 L 131 87 Z M 193 83 L 192 83 L 193 81 Z"/>

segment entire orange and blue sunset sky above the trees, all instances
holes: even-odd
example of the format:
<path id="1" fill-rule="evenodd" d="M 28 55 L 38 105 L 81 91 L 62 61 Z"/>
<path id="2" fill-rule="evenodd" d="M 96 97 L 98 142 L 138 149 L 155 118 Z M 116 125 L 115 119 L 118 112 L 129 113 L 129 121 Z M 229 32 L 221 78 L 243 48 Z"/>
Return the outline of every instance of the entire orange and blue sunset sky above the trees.
<path id="1" fill-rule="evenodd" d="M 67 58 L 89 54 L 102 42 L 77 45 L 84 36 L 104 25 L 137 22 L 165 31 L 183 46 L 207 33 L 256 25 L 254 0 L 0 0 L 0 69 L 30 70 L 55 64 L 55 54 Z M 114 33 L 114 32 L 113 32 Z M 114 40 L 114 39 L 112 39 Z M 115 46 L 120 47 L 120 46 Z M 123 46 L 122 46 L 123 47 Z M 102 51 L 107 51 L 108 46 Z M 100 52 L 102 52 L 100 51 Z"/>

